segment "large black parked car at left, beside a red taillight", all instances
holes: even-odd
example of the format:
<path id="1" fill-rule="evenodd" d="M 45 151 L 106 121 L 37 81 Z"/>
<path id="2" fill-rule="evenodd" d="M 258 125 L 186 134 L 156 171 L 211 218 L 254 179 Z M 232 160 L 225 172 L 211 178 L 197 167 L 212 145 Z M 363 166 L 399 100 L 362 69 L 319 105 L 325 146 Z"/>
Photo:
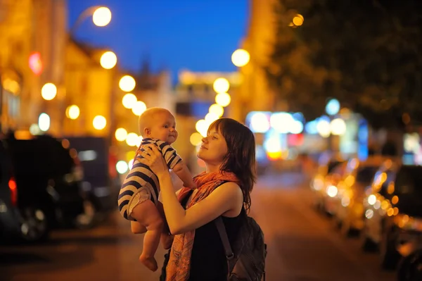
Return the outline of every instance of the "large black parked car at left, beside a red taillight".
<path id="1" fill-rule="evenodd" d="M 87 199 L 81 189 L 82 169 L 77 154 L 57 139 L 3 140 L 17 190 L 20 237 L 39 242 L 51 229 L 73 227 L 84 216 Z"/>

